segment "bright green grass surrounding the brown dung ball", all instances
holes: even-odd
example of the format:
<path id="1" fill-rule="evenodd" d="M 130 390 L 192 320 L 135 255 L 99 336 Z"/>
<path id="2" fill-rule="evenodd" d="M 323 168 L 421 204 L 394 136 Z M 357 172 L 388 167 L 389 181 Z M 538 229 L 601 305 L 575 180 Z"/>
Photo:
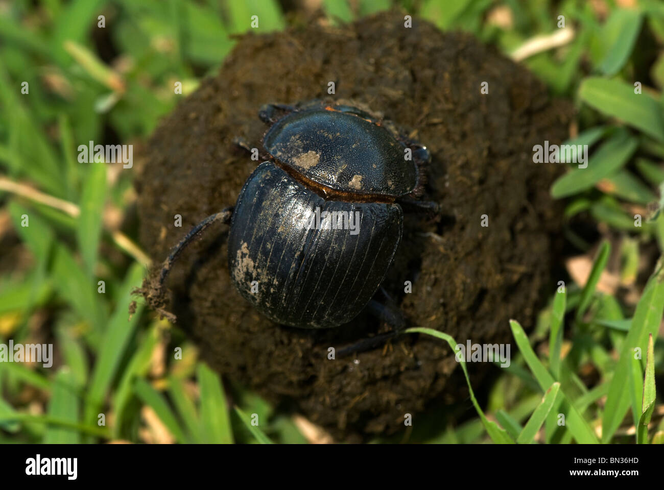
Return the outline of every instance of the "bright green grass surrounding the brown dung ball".
<path id="1" fill-rule="evenodd" d="M 330 22 L 340 24 L 394 2 L 322 5 Z M 477 418 L 410 440 L 664 442 L 655 390 L 664 368 L 657 345 L 662 262 L 645 273 L 637 301 L 598 290 L 610 243 L 618 246 L 619 276 L 631 289 L 644 276 L 639 264 L 647 256 L 640 252 L 652 254 L 652 244 L 660 255 L 664 250 L 664 6 L 655 0 L 632 10 L 608 5 L 602 17 L 581 0 L 398 2 L 404 15 L 473 33 L 507 56 L 533 37 L 556 33 L 564 15 L 574 29 L 571 41 L 523 63 L 552 94 L 576 104 L 578 131 L 566 143 L 591 149 L 588 168 L 570 163 L 552 185 L 552 195 L 566 200 L 566 238 L 588 253 L 597 245 L 570 226 L 579 214 L 611 238 L 599 244 L 586 284 L 551 291 L 529 335 L 518 319 L 511 321 L 518 352 L 509 367 L 496 363 L 503 371 L 485 406 L 468 385 Z M 79 142 L 102 141 L 109 131 L 120 140 L 114 143 L 147 137 L 179 97 L 218 68 L 236 42 L 232 35 L 251 29 L 252 15 L 258 33 L 286 27 L 278 2 L 51 0 L 35 7 L 15 0 L 3 7 L 0 216 L 7 220 L 0 222 L 13 228 L 29 260 L 0 274 L 0 342 L 29 341 L 46 317 L 62 367 L 0 363 L 0 442 L 305 442 L 290 417 L 256 394 L 236 384 L 224 390 L 181 331 L 153 320 L 140 303 L 127 318 L 131 290 L 148 262 L 137 238 L 120 233 L 112 219 L 134 199 L 131 171 L 109 173 L 103 162 L 77 160 Z M 96 31 L 99 15 L 105 31 Z M 94 32 L 119 51 L 114 64 Z M 183 95 L 174 94 L 175 82 Z M 454 350 L 445 330 L 408 332 L 434 335 Z M 459 364 L 469 381 L 465 362 Z M 596 373 L 592 383 L 584 376 L 589 370 Z M 32 408 L 21 396 L 27 389 L 35 393 Z M 427 424 L 426 416 L 418 420 Z M 628 435 L 632 427 L 635 435 Z"/>

